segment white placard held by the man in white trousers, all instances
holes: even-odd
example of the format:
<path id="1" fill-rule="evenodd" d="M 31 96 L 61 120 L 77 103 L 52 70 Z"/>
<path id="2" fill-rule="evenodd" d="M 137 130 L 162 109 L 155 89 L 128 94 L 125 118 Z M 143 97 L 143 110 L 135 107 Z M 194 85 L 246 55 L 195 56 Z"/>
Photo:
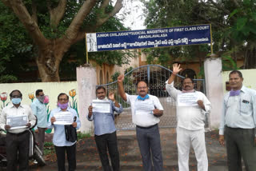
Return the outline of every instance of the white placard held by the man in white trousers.
<path id="1" fill-rule="evenodd" d="M 178 106 L 198 105 L 197 93 L 180 93 L 178 94 Z"/>

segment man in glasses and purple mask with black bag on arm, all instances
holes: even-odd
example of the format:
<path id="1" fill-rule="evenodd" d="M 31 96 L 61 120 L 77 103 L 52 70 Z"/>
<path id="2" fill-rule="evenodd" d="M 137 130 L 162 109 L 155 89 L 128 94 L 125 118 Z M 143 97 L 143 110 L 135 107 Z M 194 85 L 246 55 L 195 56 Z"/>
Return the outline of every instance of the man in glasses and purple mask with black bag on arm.
<path id="1" fill-rule="evenodd" d="M 54 128 L 54 148 L 57 155 L 58 170 L 65 171 L 65 153 L 67 154 L 67 160 L 69 163 L 69 171 L 76 169 L 76 141 L 66 141 L 66 134 L 64 125 L 57 125 L 56 116 L 59 114 L 66 114 L 76 118 L 76 121 L 72 123 L 76 129 L 80 128 L 81 122 L 78 117 L 78 113 L 75 109 L 69 107 L 69 97 L 66 93 L 60 93 L 58 95 L 58 108 L 53 109 L 50 112 L 50 120 L 48 121 L 48 128 Z M 54 117 L 55 115 L 55 117 Z M 55 124 L 54 124 L 55 122 Z"/>

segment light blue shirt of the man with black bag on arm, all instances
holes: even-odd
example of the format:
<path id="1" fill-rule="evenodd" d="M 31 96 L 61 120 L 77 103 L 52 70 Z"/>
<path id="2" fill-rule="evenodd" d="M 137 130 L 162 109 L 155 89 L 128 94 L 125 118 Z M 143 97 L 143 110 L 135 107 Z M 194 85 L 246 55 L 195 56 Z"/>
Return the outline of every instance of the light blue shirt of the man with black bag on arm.
<path id="1" fill-rule="evenodd" d="M 70 141 L 66 141 L 66 135 L 65 135 L 65 128 L 64 125 L 52 125 L 50 122 L 50 118 L 54 117 L 54 113 L 59 113 L 62 112 L 62 109 L 60 109 L 59 107 L 57 109 L 53 109 L 50 112 L 50 117 L 49 117 L 49 121 L 48 121 L 48 128 L 52 129 L 54 128 L 54 138 L 53 138 L 53 143 L 55 146 L 71 146 L 74 145 L 76 143 L 75 142 L 70 142 Z M 77 129 L 80 128 L 81 126 L 81 122 L 80 119 L 78 117 L 78 113 L 75 109 L 72 109 L 70 107 L 67 107 L 66 112 L 70 112 L 73 114 L 73 117 L 77 117 Z"/>

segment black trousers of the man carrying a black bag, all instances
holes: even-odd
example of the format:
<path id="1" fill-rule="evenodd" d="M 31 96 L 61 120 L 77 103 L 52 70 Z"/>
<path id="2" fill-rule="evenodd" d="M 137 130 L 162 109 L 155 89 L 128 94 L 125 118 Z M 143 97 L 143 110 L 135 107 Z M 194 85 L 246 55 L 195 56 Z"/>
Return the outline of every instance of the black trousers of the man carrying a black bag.
<path id="1" fill-rule="evenodd" d="M 74 171 L 76 162 L 76 144 L 72 146 L 54 146 L 58 161 L 58 171 L 65 171 L 65 156 L 69 163 L 69 171 Z M 66 152 L 66 155 L 65 155 Z"/>

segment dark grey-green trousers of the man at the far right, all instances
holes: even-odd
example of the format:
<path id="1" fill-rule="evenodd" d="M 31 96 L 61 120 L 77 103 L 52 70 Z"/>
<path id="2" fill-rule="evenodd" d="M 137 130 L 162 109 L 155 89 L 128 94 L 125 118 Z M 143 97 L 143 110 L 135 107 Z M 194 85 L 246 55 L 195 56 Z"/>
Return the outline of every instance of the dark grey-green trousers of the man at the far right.
<path id="1" fill-rule="evenodd" d="M 226 153 L 229 171 L 242 171 L 242 161 L 246 171 L 256 170 L 256 146 L 254 129 L 225 127 Z"/>

